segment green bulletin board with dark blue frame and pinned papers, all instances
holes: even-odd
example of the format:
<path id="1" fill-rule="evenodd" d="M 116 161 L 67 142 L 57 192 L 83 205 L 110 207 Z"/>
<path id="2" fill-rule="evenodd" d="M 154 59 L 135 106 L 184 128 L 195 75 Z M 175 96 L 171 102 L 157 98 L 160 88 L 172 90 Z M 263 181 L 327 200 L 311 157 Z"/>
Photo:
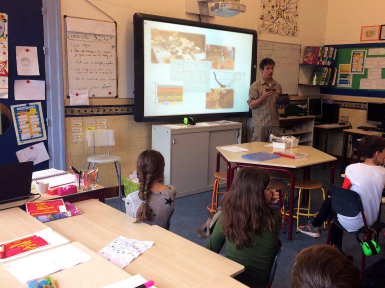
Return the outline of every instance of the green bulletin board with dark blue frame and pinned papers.
<path id="1" fill-rule="evenodd" d="M 321 93 L 385 97 L 385 43 L 328 46 L 337 48 L 337 76 L 335 85 L 331 88 L 321 87 Z M 340 69 L 341 79 L 345 78 L 345 82 L 338 80 Z"/>

